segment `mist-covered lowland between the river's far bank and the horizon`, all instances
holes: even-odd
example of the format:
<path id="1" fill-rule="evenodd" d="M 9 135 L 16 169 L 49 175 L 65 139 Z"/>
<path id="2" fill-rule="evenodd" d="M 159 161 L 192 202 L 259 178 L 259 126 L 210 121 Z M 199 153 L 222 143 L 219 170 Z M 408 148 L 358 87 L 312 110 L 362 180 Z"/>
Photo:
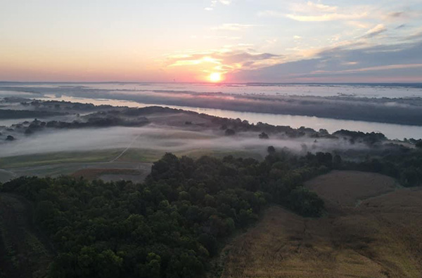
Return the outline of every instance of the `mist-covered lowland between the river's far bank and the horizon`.
<path id="1" fill-rule="evenodd" d="M 133 86 L 133 87 L 132 87 Z M 32 98 L 72 96 L 146 104 L 291 114 L 422 126 L 421 86 L 290 85 L 200 86 L 197 84 L 3 84 L 0 90 Z"/>

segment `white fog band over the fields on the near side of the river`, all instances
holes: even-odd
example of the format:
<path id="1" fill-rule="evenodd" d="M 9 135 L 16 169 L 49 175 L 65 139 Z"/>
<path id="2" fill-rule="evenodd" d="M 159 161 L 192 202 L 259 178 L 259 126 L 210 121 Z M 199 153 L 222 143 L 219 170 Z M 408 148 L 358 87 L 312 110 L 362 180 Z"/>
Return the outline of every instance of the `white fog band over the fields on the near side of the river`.
<path id="1" fill-rule="evenodd" d="M 220 131 L 218 131 L 220 132 Z M 238 133 L 224 136 L 216 131 L 185 131 L 170 126 L 145 126 L 139 128 L 83 128 L 51 130 L 22 136 L 12 142 L 2 142 L 0 157 L 49 152 L 75 152 L 136 148 L 157 152 L 188 152 L 191 150 L 252 151 L 267 153 L 267 147 L 288 147 L 295 151 L 330 151 L 339 149 L 366 149 L 366 145 L 350 145 L 347 140 L 326 138 L 288 139 L 270 135 L 259 139 L 258 133 Z M 306 147 L 305 147 L 306 145 Z"/>

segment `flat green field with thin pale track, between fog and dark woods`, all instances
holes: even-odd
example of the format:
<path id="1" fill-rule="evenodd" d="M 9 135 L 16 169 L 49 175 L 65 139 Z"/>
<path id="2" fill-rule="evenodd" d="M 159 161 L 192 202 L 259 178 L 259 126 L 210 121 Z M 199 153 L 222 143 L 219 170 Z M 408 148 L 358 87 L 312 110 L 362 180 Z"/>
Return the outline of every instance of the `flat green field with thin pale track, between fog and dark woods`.
<path id="1" fill-rule="evenodd" d="M 105 181 L 132 180 L 142 182 L 151 171 L 154 161 L 160 159 L 164 150 L 146 150 L 129 148 L 98 150 L 88 152 L 54 152 L 48 154 L 25 155 L 0 158 L 0 182 L 6 182 L 18 176 L 60 175 L 101 178 Z M 223 151 L 206 148 L 174 152 L 181 157 L 186 155 L 194 159 L 203 155 L 212 157 L 254 157 L 262 159 L 260 154 L 248 151 Z"/>

